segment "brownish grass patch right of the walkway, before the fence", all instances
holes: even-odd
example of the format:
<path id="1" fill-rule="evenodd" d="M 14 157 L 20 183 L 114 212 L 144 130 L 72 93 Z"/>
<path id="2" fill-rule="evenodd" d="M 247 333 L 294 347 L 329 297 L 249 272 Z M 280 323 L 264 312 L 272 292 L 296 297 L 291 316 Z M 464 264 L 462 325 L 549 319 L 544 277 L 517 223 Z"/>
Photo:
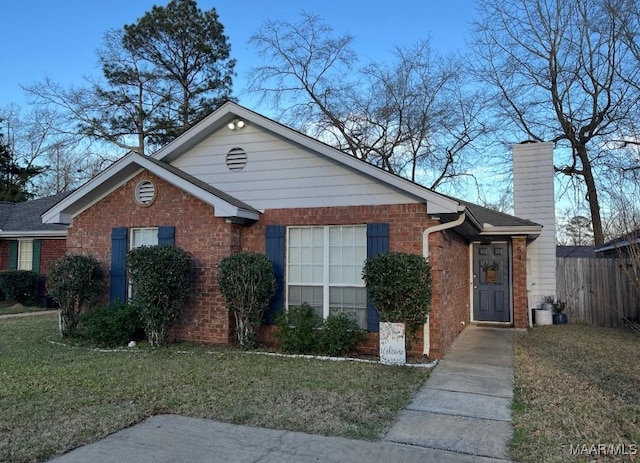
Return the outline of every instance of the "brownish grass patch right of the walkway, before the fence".
<path id="1" fill-rule="evenodd" d="M 516 336 L 512 457 L 640 461 L 639 354 L 631 331 L 555 325 Z M 619 454 L 572 454 L 572 446 L 599 444 L 617 445 Z"/>

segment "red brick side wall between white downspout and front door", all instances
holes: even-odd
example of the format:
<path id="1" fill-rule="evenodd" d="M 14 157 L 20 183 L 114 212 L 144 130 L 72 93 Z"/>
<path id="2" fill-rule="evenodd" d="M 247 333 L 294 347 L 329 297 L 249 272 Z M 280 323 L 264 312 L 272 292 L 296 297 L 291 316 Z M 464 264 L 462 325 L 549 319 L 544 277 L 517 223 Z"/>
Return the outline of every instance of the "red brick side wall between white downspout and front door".
<path id="1" fill-rule="evenodd" d="M 429 236 L 429 263 L 433 276 L 429 357 L 441 358 L 469 324 L 469 245 L 454 231 L 433 233 Z"/>

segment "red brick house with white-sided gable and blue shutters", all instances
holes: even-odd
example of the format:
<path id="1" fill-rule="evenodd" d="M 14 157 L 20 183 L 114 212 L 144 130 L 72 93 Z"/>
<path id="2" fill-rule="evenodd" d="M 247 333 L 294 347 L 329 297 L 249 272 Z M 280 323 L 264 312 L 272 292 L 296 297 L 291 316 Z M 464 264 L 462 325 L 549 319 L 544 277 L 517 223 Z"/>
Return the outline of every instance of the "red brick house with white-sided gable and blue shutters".
<path id="1" fill-rule="evenodd" d="M 435 193 L 234 103 L 152 156 L 127 154 L 43 221 L 69 224 L 68 251 L 109 269 L 112 301 L 127 297 L 127 250 L 175 244 L 190 252 L 193 297 L 173 334 L 209 343 L 233 339 L 217 285 L 224 256 L 253 251 L 272 260 L 278 291 L 267 324 L 307 302 L 322 316 L 353 314 L 377 348 L 364 260 L 424 255 L 432 310 L 413 350 L 431 357 L 469 322 L 527 326 L 527 247 L 542 228 Z"/>

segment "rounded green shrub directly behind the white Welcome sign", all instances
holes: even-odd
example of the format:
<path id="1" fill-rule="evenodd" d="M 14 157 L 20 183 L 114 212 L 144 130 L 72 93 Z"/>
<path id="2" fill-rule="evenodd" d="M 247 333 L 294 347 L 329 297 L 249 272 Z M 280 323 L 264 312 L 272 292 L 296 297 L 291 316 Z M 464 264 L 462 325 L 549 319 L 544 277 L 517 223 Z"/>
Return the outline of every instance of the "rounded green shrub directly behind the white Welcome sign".
<path id="1" fill-rule="evenodd" d="M 390 252 L 365 261 L 362 278 L 380 321 L 404 323 L 414 338 L 431 308 L 431 266 L 417 254 Z"/>

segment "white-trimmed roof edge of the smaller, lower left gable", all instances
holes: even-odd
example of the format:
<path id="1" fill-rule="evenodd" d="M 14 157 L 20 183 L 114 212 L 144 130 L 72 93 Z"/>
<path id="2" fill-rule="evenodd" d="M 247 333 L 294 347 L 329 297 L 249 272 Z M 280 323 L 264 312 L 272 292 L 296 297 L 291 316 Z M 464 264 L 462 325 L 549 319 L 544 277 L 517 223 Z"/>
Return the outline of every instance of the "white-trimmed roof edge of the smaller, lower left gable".
<path id="1" fill-rule="evenodd" d="M 157 159 L 131 151 L 42 214 L 45 223 L 71 223 L 72 218 L 116 190 L 143 169 L 212 206 L 216 217 L 257 220 L 248 204 Z"/>

